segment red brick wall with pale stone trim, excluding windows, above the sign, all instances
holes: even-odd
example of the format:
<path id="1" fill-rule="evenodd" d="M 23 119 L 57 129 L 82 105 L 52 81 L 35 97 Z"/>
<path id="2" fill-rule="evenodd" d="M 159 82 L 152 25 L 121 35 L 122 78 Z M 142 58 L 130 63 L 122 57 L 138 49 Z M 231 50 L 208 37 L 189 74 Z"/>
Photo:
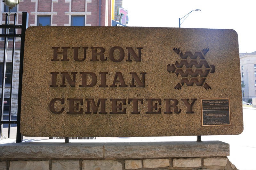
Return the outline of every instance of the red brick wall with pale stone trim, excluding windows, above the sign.
<path id="1" fill-rule="evenodd" d="M 2 3 L 2 2 L 1 2 Z M 22 11 L 29 14 L 29 26 L 36 26 L 38 15 L 51 15 L 53 26 L 64 26 L 69 24 L 72 12 L 84 12 L 78 15 L 86 15 L 87 25 L 99 26 L 99 6 L 101 5 L 101 26 L 110 26 L 111 0 L 23 0 L 18 5 L 18 24 L 21 24 Z M 4 5 L 2 3 L 2 5 Z M 5 21 L 5 13 L 2 12 L 2 24 Z M 57 13 L 57 14 L 56 14 Z M 19 17 L 20 15 L 20 17 Z M 13 16 L 11 16 L 13 21 Z"/>

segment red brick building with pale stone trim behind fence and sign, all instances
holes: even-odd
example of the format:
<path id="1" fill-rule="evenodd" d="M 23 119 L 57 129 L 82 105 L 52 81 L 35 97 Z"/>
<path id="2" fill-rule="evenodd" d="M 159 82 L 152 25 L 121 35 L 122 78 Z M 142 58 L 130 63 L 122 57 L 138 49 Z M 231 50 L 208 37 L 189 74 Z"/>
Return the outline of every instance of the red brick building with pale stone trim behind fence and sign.
<path id="1" fill-rule="evenodd" d="M 116 10 L 123 0 L 20 0 L 20 4 L 11 10 L 10 25 L 13 25 L 14 13 L 16 25 L 22 23 L 22 12 L 28 12 L 28 26 L 111 26 L 111 18 L 118 18 Z M 116 5 L 115 5 L 116 2 Z M 0 23 L 5 25 L 8 6 L 0 2 Z M 4 29 L 0 30 L 4 33 Z M 13 33 L 10 29 L 9 33 Z M 20 33 L 20 32 L 18 32 Z M 0 86 L 2 88 L 4 39 L 0 39 Z M 20 48 L 20 38 L 15 40 L 15 49 Z M 13 75 L 9 73 L 12 62 L 12 39 L 9 39 L 4 91 L 4 113 L 12 103 L 12 115 L 17 114 L 20 51 L 15 50 Z M 10 81 L 13 80 L 12 101 L 10 101 Z M 11 78 L 10 78 L 11 79 Z M 1 93 L 1 92 L 0 92 Z"/>

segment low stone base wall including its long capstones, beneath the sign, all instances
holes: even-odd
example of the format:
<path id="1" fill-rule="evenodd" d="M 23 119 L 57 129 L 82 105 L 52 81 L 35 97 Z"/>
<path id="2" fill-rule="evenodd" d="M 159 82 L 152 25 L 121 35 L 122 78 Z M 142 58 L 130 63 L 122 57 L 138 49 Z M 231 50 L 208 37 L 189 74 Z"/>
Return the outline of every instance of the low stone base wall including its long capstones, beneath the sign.
<path id="1" fill-rule="evenodd" d="M 220 141 L 3 141 L 0 143 L 0 169 L 4 170 L 237 170 L 227 158 L 229 144 Z"/>

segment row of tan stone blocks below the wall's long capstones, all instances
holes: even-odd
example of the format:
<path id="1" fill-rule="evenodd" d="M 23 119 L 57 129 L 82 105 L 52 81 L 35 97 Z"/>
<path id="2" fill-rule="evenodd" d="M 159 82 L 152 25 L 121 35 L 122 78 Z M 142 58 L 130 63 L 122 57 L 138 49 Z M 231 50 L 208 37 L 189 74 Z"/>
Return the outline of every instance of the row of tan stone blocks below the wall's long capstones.
<path id="1" fill-rule="evenodd" d="M 237 170 L 227 157 L 0 161 L 5 170 Z"/>

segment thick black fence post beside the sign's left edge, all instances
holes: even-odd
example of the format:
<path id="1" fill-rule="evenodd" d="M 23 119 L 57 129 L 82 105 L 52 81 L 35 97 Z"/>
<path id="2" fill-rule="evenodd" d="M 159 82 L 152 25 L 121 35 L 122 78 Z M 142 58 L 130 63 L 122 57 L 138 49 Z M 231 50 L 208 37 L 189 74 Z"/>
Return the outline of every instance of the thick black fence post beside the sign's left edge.
<path id="1" fill-rule="evenodd" d="M 20 111 L 21 111 L 21 89 L 22 89 L 22 74 L 23 74 L 23 60 L 24 60 L 24 44 L 25 31 L 28 28 L 28 13 L 22 12 L 22 26 L 21 26 L 21 41 L 20 41 L 20 71 L 19 71 L 19 94 L 18 94 L 18 114 L 17 114 L 17 135 L 16 143 L 23 140 L 23 135 L 20 133 Z"/>

